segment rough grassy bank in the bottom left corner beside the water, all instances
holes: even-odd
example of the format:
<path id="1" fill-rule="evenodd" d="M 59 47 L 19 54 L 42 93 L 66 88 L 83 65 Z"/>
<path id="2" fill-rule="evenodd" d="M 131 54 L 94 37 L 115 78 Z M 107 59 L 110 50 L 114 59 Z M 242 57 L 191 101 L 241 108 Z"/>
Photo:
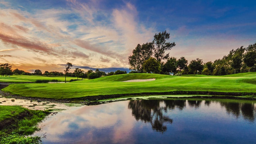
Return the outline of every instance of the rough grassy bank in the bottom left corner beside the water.
<path id="1" fill-rule="evenodd" d="M 39 110 L 28 110 L 20 106 L 0 106 L 0 144 L 8 143 L 41 143 L 40 137 L 27 137 L 38 130 L 47 113 Z"/>

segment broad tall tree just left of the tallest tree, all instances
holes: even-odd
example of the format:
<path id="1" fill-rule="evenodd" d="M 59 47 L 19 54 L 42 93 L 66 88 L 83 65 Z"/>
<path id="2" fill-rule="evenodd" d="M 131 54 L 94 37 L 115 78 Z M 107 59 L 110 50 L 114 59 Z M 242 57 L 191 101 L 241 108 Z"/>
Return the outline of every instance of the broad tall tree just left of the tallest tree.
<path id="1" fill-rule="evenodd" d="M 132 51 L 132 55 L 128 57 L 130 70 L 135 70 L 139 73 L 143 73 L 143 62 L 148 60 L 152 55 L 152 43 L 138 44 Z"/>

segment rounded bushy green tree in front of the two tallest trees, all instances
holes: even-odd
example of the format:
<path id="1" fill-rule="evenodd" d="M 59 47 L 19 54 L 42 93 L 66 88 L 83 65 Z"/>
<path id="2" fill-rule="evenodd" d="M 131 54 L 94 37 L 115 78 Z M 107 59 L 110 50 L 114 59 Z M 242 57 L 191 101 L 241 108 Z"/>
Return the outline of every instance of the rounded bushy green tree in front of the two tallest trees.
<path id="1" fill-rule="evenodd" d="M 147 73 L 160 73 L 160 62 L 155 58 L 149 58 L 143 63 L 143 70 Z"/>

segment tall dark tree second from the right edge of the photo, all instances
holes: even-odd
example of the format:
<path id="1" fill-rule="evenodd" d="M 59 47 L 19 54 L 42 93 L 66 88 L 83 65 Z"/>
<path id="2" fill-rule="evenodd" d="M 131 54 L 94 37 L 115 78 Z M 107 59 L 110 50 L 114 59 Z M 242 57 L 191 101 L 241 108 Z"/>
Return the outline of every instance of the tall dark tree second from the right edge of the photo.
<path id="1" fill-rule="evenodd" d="M 231 67 L 234 68 L 235 73 L 236 73 L 236 70 L 238 72 L 240 72 L 240 69 L 242 67 L 242 55 L 243 55 L 244 51 L 245 51 L 245 48 L 243 48 L 243 46 L 236 49 L 235 51 L 233 51 L 233 49 L 232 49 Z"/>

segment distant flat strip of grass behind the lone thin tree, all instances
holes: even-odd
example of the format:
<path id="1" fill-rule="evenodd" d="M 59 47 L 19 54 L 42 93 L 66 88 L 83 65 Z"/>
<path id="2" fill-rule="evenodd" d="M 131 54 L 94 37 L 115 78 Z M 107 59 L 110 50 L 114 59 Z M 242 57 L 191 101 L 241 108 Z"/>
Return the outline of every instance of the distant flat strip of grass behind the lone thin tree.
<path id="1" fill-rule="evenodd" d="M 59 82 L 65 82 L 65 76 L 39 76 L 39 75 L 12 75 L 10 77 L 0 76 L 0 82 L 36 82 L 36 80 L 53 80 L 56 79 Z M 75 79 L 74 77 L 67 77 L 66 81 Z"/>

